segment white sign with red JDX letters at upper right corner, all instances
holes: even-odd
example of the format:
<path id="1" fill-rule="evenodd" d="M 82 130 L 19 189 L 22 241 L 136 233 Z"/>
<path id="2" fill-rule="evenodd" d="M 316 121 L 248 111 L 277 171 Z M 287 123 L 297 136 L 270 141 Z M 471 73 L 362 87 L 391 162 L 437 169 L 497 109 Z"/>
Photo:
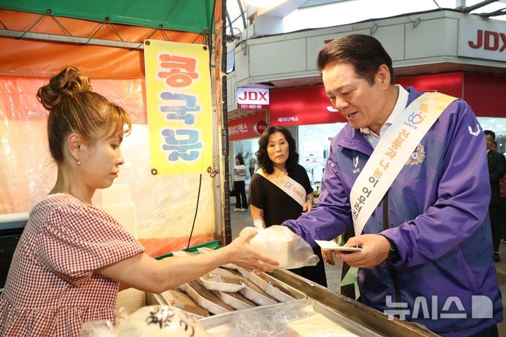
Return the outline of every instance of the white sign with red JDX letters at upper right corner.
<path id="1" fill-rule="evenodd" d="M 458 49 L 458 56 L 506 61 L 506 25 L 462 18 Z"/>

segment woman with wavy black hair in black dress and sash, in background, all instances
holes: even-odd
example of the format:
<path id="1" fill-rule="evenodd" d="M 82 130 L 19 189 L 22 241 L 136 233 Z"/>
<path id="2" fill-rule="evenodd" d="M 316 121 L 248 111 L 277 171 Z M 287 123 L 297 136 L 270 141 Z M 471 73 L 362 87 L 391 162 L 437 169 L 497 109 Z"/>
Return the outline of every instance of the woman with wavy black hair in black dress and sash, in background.
<path id="1" fill-rule="evenodd" d="M 268 127 L 259 139 L 259 151 L 256 153 L 259 170 L 253 174 L 249 183 L 249 206 L 253 221 L 259 220 L 265 227 L 281 224 L 285 220 L 297 219 L 302 213 L 313 207 L 313 188 L 306 169 L 299 165 L 299 153 L 295 140 L 285 127 Z M 287 193 L 283 186 L 276 184 L 277 179 L 290 182 L 303 190 L 302 199 Z M 305 277 L 322 286 L 327 286 L 325 265 L 320 248 L 313 248 L 320 257 L 316 266 L 291 269 L 291 272 Z"/>

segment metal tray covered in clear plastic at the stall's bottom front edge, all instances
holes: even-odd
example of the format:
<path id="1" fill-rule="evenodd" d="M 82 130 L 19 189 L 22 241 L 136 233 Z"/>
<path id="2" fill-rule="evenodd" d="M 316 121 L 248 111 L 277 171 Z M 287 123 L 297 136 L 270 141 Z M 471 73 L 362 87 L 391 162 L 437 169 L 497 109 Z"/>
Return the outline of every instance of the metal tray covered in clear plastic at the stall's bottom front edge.
<path id="1" fill-rule="evenodd" d="M 326 319 L 341 326 L 344 331 L 339 334 L 322 331 L 320 336 L 381 336 L 374 331 L 361 326 L 330 307 L 316 300 L 294 300 L 290 303 L 264 305 L 251 309 L 217 314 L 213 317 L 200 319 L 209 336 L 307 336 L 299 335 L 290 329 L 287 323 L 322 314 Z M 325 330 L 325 327 L 322 326 Z M 347 332 L 346 332 L 347 331 Z M 319 336 L 313 330 L 311 336 Z"/>

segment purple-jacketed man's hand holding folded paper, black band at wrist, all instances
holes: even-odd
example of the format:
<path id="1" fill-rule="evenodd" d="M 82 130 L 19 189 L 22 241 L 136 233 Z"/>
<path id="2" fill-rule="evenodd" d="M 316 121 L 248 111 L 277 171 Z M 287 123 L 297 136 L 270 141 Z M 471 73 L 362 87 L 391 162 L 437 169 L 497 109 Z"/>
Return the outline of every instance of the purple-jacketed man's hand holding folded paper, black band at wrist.
<path id="1" fill-rule="evenodd" d="M 346 253 L 335 250 L 335 255 L 351 267 L 357 268 L 373 268 L 380 265 L 381 262 L 387 260 L 390 250 L 390 243 L 382 235 L 364 234 L 361 236 L 353 236 L 344 246 L 362 246 L 359 252 Z"/>

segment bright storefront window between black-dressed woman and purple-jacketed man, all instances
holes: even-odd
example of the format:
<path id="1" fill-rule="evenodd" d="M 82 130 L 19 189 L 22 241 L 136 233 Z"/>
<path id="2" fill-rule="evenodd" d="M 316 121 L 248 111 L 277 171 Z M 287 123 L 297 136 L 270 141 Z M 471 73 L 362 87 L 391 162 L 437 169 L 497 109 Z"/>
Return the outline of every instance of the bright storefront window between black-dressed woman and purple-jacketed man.
<path id="1" fill-rule="evenodd" d="M 330 140 L 346 123 L 299 126 L 299 164 L 306 168 L 313 189 L 320 188 L 323 169 L 330 151 Z"/>

